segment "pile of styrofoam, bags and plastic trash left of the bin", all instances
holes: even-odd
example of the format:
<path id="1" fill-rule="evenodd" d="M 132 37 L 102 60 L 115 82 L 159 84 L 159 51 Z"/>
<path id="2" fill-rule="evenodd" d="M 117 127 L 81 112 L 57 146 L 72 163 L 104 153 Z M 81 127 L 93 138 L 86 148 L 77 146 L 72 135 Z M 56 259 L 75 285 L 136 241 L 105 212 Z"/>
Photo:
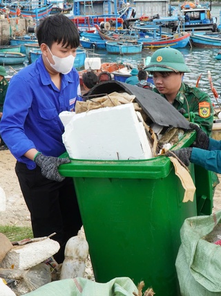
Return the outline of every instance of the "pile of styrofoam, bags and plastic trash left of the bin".
<path id="1" fill-rule="evenodd" d="M 83 227 L 66 244 L 65 260 L 58 264 L 53 255 L 59 243 L 50 237 L 10 242 L 0 233 L 1 296 L 26 295 L 51 281 L 86 277 L 94 281 Z"/>

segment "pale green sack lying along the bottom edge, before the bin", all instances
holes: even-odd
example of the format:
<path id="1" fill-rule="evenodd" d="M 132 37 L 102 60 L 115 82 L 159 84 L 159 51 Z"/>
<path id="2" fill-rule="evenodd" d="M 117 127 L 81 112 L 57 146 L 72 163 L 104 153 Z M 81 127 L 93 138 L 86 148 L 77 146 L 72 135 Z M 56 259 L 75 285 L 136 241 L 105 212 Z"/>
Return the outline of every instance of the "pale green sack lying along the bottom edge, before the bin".
<path id="1" fill-rule="evenodd" d="M 128 277 L 116 277 L 105 284 L 83 277 L 53 281 L 26 296 L 131 296 L 138 293 L 137 287 Z"/>

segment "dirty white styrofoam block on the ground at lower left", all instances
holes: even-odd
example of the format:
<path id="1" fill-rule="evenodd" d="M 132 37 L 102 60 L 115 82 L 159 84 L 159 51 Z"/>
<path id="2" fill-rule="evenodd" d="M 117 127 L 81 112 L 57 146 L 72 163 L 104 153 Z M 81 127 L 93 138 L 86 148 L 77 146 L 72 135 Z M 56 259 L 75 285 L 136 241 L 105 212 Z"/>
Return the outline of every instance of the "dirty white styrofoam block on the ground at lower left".
<path id="1" fill-rule="evenodd" d="M 0 264 L 0 268 L 14 268 L 26 270 L 35 266 L 57 253 L 60 245 L 50 238 L 44 241 L 18 245 L 8 252 Z"/>

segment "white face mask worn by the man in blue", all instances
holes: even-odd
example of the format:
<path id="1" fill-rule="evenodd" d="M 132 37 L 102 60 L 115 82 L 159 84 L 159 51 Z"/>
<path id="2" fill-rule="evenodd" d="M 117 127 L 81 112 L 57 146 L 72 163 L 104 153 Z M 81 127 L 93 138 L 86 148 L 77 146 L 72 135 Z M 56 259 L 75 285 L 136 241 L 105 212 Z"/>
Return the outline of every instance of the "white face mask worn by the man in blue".
<path id="1" fill-rule="evenodd" d="M 59 58 L 56 55 L 53 55 L 51 51 L 50 51 L 50 54 L 52 55 L 52 59 L 55 62 L 55 64 L 51 64 L 47 57 L 50 67 L 52 67 L 53 69 L 55 69 L 55 71 L 62 74 L 67 74 L 71 71 L 75 62 L 75 57 L 73 55 L 68 55 L 68 57 L 66 58 Z"/>

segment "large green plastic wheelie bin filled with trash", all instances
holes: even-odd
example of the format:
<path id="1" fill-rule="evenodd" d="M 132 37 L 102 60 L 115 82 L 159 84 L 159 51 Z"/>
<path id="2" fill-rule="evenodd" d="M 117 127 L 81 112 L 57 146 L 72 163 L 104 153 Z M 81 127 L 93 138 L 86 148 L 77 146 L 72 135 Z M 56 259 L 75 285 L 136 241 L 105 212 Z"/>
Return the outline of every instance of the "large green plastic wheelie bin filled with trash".
<path id="1" fill-rule="evenodd" d="M 187 132 L 177 148 L 194 139 L 195 132 Z M 193 164 L 189 170 L 194 181 Z M 196 197 L 182 202 L 184 189 L 170 159 L 72 159 L 59 172 L 75 182 L 95 280 L 130 277 L 136 285 L 143 280 L 156 295 L 180 295 L 175 270 L 180 228 L 198 210 Z"/>

